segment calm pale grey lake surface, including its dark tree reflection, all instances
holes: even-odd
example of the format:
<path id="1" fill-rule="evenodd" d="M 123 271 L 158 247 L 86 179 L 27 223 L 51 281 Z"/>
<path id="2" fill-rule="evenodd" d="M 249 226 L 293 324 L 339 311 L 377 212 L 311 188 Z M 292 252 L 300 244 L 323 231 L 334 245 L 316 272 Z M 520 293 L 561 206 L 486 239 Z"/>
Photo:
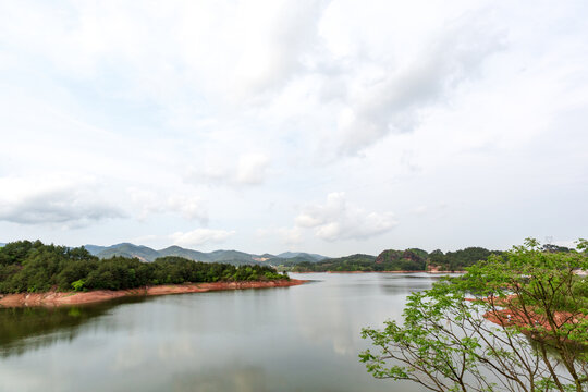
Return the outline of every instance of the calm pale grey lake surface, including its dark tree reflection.
<path id="1" fill-rule="evenodd" d="M 0 309 L 0 391 L 420 391 L 366 372 L 360 330 L 439 277 L 291 277 L 314 282 Z"/>

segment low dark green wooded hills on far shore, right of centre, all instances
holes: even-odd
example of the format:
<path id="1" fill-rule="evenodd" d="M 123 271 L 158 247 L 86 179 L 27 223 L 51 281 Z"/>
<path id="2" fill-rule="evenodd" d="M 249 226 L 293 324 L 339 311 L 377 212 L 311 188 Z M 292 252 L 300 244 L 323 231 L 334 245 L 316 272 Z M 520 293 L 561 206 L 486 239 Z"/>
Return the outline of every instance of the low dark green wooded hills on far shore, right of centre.
<path id="1" fill-rule="evenodd" d="M 462 271 L 479 260 L 488 259 L 488 256 L 492 254 L 501 253 L 500 250 L 488 250 L 482 247 L 467 247 L 448 253 L 437 249 L 430 254 L 418 248 L 388 249 L 377 257 L 352 255 L 319 262 L 284 264 L 279 269 L 293 272 Z"/>

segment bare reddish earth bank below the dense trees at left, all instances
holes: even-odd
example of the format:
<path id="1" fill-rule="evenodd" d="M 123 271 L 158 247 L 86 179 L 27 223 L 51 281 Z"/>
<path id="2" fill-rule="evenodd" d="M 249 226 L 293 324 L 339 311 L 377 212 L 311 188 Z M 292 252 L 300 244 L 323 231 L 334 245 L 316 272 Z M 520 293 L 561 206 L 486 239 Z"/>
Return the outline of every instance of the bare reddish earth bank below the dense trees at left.
<path id="1" fill-rule="evenodd" d="M 28 306 L 66 306 L 95 304 L 127 296 L 206 293 L 210 291 L 290 287 L 307 283 L 306 280 L 271 280 L 215 283 L 184 283 L 143 286 L 127 290 L 94 290 L 89 292 L 46 292 L 0 294 L 0 308 Z"/>

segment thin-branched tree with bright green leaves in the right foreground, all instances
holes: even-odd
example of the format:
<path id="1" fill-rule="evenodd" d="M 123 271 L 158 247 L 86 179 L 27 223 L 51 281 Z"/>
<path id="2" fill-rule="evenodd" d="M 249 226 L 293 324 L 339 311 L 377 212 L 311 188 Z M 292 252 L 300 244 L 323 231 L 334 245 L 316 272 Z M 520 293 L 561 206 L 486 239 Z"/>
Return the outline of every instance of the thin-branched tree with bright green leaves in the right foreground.
<path id="1" fill-rule="evenodd" d="M 367 328 L 377 378 L 431 391 L 588 391 L 588 242 L 542 252 L 535 240 L 414 293 L 404 323 Z"/>

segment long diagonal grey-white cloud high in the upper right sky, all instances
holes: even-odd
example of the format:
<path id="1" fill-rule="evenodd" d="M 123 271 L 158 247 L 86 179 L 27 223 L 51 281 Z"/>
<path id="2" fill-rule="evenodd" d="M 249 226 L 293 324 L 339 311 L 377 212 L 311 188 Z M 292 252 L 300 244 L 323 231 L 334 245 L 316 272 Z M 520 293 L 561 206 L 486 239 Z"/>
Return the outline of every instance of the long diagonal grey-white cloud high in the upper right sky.
<path id="1" fill-rule="evenodd" d="M 350 70 L 354 78 L 338 120 L 340 151 L 355 154 L 389 133 L 413 132 L 424 110 L 446 101 L 478 74 L 483 61 L 504 48 L 503 33 L 483 22 L 468 14 L 456 26 L 443 26 L 395 68 L 366 59 Z"/>

